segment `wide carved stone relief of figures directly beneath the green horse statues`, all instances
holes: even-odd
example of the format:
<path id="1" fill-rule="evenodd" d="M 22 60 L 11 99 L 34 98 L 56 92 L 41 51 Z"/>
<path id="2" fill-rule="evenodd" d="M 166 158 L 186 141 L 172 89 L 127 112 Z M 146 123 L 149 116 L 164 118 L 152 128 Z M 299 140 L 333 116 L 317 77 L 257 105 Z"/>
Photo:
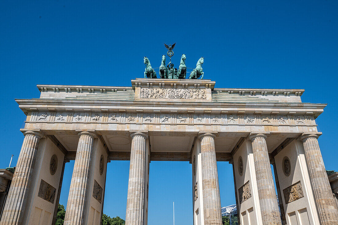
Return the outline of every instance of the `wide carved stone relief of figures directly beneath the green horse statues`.
<path id="1" fill-rule="evenodd" d="M 207 99 L 205 89 L 141 88 L 140 98 Z"/>

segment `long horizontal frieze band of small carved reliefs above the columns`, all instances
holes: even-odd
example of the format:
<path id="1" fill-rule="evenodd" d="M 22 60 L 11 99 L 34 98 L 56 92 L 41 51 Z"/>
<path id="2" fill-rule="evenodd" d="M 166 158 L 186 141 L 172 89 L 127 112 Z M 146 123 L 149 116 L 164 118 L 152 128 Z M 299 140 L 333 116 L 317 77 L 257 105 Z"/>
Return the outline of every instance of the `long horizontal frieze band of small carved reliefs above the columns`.
<path id="1" fill-rule="evenodd" d="M 182 89 L 179 89 L 182 90 Z M 220 124 L 220 125 L 315 125 L 313 116 L 255 114 L 187 114 L 187 113 L 116 113 L 38 112 L 32 111 L 30 122 L 80 123 L 149 123 L 149 124 Z"/>

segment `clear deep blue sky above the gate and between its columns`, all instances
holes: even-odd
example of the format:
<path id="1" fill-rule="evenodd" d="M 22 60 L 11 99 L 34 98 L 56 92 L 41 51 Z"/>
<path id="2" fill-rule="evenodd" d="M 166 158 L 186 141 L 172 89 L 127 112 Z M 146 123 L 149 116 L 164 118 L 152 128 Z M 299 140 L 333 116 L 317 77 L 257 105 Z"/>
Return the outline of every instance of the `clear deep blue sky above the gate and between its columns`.
<path id="1" fill-rule="evenodd" d="M 328 103 L 317 118 L 325 167 L 338 170 L 338 1 L 1 1 L 0 166 L 17 162 L 25 115 L 15 98 L 38 98 L 37 84 L 130 86 L 143 57 L 159 67 L 173 44 L 178 67 L 204 57 L 216 87 L 305 89 L 303 102 Z M 74 161 L 66 164 L 66 206 Z M 104 213 L 125 218 L 129 161 L 108 164 Z M 221 204 L 235 204 L 232 167 L 218 163 Z M 187 162 L 150 164 L 149 225 L 192 223 Z"/>

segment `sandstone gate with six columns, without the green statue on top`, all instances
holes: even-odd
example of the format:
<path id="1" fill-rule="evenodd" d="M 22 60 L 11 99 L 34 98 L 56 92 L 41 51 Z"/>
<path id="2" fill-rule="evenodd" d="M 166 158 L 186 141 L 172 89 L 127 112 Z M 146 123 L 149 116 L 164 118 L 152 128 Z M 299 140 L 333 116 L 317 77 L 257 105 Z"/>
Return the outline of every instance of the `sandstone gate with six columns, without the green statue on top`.
<path id="1" fill-rule="evenodd" d="M 65 224 L 100 224 L 107 163 L 130 160 L 126 225 L 146 225 L 149 164 L 167 160 L 191 163 L 194 225 L 222 224 L 218 161 L 233 165 L 240 224 L 337 225 L 315 122 L 325 104 L 301 102 L 298 89 L 214 86 L 138 78 L 38 85 L 40 98 L 16 99 L 27 119 L 0 224 L 52 224 L 69 160 Z"/>

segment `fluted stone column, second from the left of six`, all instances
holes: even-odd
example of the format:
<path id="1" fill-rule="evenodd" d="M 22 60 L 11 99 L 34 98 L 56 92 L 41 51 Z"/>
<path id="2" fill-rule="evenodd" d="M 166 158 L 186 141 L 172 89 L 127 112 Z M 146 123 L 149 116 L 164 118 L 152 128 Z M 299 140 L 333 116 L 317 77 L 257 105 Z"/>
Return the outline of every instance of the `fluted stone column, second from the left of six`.
<path id="1" fill-rule="evenodd" d="M 88 194 L 90 165 L 93 152 L 95 133 L 82 131 L 77 145 L 73 176 L 70 183 L 66 207 L 65 225 L 83 224 L 86 213 L 85 205 Z"/>

